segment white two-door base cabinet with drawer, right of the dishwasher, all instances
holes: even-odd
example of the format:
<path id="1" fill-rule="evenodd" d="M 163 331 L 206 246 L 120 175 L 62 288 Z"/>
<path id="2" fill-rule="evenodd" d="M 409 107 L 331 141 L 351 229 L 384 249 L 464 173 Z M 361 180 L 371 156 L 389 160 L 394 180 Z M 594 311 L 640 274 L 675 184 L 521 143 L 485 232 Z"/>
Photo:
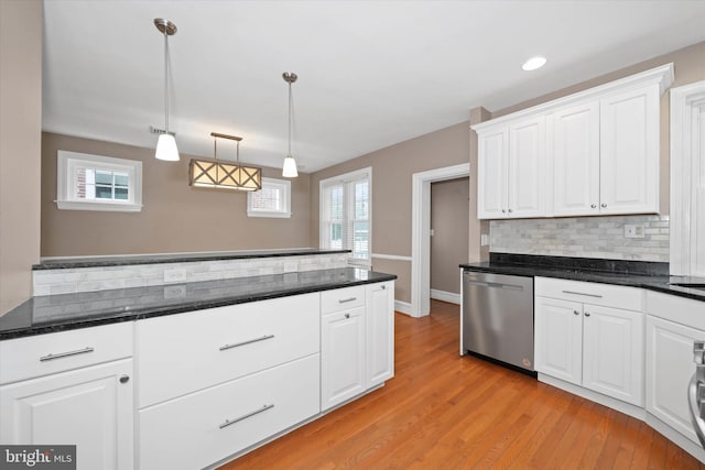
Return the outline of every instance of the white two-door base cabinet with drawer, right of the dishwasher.
<path id="1" fill-rule="evenodd" d="M 643 405 L 643 313 L 599 305 L 639 289 L 538 277 L 534 293 L 536 371 Z"/>

